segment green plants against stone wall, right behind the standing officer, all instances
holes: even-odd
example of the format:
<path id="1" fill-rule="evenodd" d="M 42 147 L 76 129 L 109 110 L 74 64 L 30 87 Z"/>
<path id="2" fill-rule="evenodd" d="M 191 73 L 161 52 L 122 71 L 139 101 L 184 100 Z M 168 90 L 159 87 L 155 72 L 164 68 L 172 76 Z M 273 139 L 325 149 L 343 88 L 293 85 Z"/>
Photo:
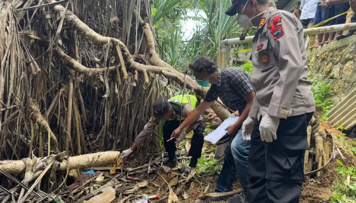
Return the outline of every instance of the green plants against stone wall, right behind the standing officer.
<path id="1" fill-rule="evenodd" d="M 328 119 L 327 114 L 334 107 L 334 103 L 331 101 L 332 93 L 328 83 L 315 80 L 308 74 L 308 79 L 312 82 L 312 92 L 314 94 L 315 105 L 322 106 L 323 112 L 321 120 L 326 121 Z"/>

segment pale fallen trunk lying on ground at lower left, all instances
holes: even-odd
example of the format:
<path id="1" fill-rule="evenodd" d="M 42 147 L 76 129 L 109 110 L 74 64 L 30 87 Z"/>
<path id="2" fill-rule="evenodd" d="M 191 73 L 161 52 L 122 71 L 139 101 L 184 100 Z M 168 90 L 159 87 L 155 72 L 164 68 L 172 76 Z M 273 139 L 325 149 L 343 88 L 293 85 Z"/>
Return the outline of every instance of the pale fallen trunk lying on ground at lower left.
<path id="1" fill-rule="evenodd" d="M 93 167 L 93 166 L 102 166 L 109 163 L 115 162 L 116 157 L 120 155 L 118 151 L 107 151 L 107 152 L 98 152 L 94 154 L 84 154 L 80 156 L 72 156 L 69 157 L 69 170 L 76 168 L 85 168 L 85 167 Z M 45 159 L 50 159 L 49 157 L 45 157 Z M 9 174 L 20 174 L 26 171 L 26 164 L 24 160 L 6 160 L 0 161 L 0 170 L 7 172 Z M 48 164 L 48 161 L 42 161 Z M 68 168 L 68 164 L 66 161 L 60 162 L 60 167 L 58 170 L 65 171 Z M 45 166 L 44 166 L 45 167 Z"/>

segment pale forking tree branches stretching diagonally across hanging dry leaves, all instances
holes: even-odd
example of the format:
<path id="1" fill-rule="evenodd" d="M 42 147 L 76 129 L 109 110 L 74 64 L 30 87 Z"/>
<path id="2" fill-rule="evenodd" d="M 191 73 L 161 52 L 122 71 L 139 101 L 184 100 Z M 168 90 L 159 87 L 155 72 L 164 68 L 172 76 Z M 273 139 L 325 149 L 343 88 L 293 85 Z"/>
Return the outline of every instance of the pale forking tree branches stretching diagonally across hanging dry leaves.
<path id="1" fill-rule="evenodd" d="M 55 2 L 55 0 L 51 0 L 50 2 Z M 158 57 L 155 51 L 155 43 L 153 41 L 152 30 L 150 29 L 149 26 L 147 27 L 146 23 L 142 20 L 142 18 L 139 15 L 137 17 L 139 17 L 140 19 L 140 25 L 143 26 L 142 28 L 144 29 L 144 33 L 147 38 L 147 44 L 149 44 L 150 63 L 154 65 L 143 65 L 141 63 L 134 61 L 129 50 L 127 49 L 127 47 L 124 45 L 123 42 L 115 38 L 104 37 L 99 35 L 99 33 L 95 32 L 93 29 L 88 27 L 72 12 L 67 11 L 65 13 L 65 8 L 63 6 L 56 5 L 53 7 L 53 11 L 55 13 L 58 13 L 61 17 L 62 16 L 65 17 L 67 23 L 70 24 L 71 27 L 75 29 L 78 35 L 81 35 L 84 40 L 90 40 L 91 43 L 101 44 L 101 45 L 106 45 L 108 42 L 111 42 L 114 46 L 116 45 L 120 46 L 121 51 L 123 51 L 124 60 L 126 61 L 127 65 L 132 70 L 136 70 L 142 73 L 145 76 L 145 80 L 146 80 L 146 74 L 144 72 L 147 73 L 153 72 L 156 74 L 162 74 L 167 78 L 173 79 L 175 82 L 179 83 L 180 85 L 184 85 L 185 80 L 187 80 L 186 84 L 188 89 L 193 90 L 194 92 L 198 93 L 202 97 L 205 96 L 205 92 L 202 90 L 201 86 L 197 84 L 196 81 L 194 81 L 190 77 L 185 77 L 184 74 L 174 70 L 172 66 L 170 66 L 168 63 L 164 62 L 162 59 Z M 134 14 L 137 15 L 135 11 Z M 70 56 L 67 56 L 61 49 L 56 48 L 55 51 L 58 55 L 61 56 L 62 59 L 65 57 L 64 61 L 66 62 L 66 64 L 79 73 L 99 73 L 99 72 L 102 73 L 104 71 L 101 69 L 88 69 L 88 68 L 85 69 L 85 66 L 81 65 L 79 62 L 75 61 Z M 118 52 L 120 50 L 116 49 L 116 51 Z M 116 69 L 115 67 L 110 67 L 109 71 L 116 71 Z M 125 71 L 122 70 L 122 71 L 125 74 L 126 70 Z M 217 114 L 221 119 L 225 118 L 226 115 L 229 114 L 228 111 L 221 105 L 215 105 L 213 110 L 215 112 L 219 112 L 220 115 L 218 113 Z M 220 112 L 224 112 L 224 113 L 220 113 Z"/>

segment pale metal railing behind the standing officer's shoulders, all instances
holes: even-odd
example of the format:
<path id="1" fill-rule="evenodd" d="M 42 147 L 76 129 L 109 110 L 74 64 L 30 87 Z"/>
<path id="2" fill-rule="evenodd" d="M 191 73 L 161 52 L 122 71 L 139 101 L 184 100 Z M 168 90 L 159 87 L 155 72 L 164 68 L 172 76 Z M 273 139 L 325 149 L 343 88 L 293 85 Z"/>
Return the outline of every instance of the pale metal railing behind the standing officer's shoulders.
<path id="1" fill-rule="evenodd" d="M 343 31 L 343 30 L 350 30 L 350 29 L 356 29 L 356 22 L 304 29 L 304 35 L 307 36 L 305 42 L 306 49 L 308 48 L 310 35 L 318 35 L 321 33 L 329 33 L 329 32 L 336 32 L 336 31 Z M 219 69 L 224 69 L 226 67 L 226 51 L 229 45 L 251 43 L 253 38 L 254 36 L 249 36 L 246 37 L 245 40 L 240 40 L 240 38 L 233 38 L 233 39 L 226 39 L 221 41 L 220 54 L 219 54 Z"/>

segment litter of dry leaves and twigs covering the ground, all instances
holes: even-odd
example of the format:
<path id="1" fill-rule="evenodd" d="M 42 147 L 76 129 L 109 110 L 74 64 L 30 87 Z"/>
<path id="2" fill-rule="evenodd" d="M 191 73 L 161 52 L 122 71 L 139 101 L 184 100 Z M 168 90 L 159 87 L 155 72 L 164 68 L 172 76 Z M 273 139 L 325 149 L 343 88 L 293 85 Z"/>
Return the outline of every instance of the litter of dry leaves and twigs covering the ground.
<path id="1" fill-rule="evenodd" d="M 105 167 L 90 167 L 78 170 L 79 177 L 67 177 L 66 180 L 62 177 L 47 173 L 44 177 L 37 180 L 27 181 L 24 177 L 13 177 L 6 172 L 3 172 L 13 184 L 17 186 L 12 189 L 0 189 L 0 201 L 11 202 L 13 199 L 21 199 L 22 201 L 39 202 L 39 200 L 47 199 L 52 202 L 83 202 L 97 195 L 102 194 L 105 188 L 113 188 L 115 190 L 115 199 L 113 202 L 136 202 L 144 196 L 160 194 L 160 199 L 151 199 L 152 202 L 182 202 L 188 200 L 188 191 L 191 183 L 194 188 L 201 191 L 200 194 L 207 192 L 206 188 L 210 187 L 210 183 L 205 181 L 196 173 L 195 168 L 192 169 L 186 165 L 188 152 L 177 151 L 177 160 L 180 161 L 179 167 L 167 168 L 161 166 L 161 163 L 166 160 L 166 154 L 153 154 L 144 162 L 123 161 L 117 167 L 116 172 L 110 175 L 110 166 Z M 84 173 L 85 172 L 85 173 Z M 68 172 L 69 173 L 69 172 Z M 58 175 L 58 174 L 57 174 Z M 38 188 L 42 188 L 41 184 L 49 184 L 50 182 L 61 180 L 62 187 L 52 193 L 42 192 Z M 26 181 L 26 184 L 21 183 Z M 27 185 L 32 185 L 34 182 L 39 182 L 37 187 L 31 187 L 29 190 Z M 48 181 L 48 183 L 47 183 Z M 55 187 L 54 187 L 55 188 Z M 23 194 L 27 194 L 26 199 L 23 199 Z"/>

